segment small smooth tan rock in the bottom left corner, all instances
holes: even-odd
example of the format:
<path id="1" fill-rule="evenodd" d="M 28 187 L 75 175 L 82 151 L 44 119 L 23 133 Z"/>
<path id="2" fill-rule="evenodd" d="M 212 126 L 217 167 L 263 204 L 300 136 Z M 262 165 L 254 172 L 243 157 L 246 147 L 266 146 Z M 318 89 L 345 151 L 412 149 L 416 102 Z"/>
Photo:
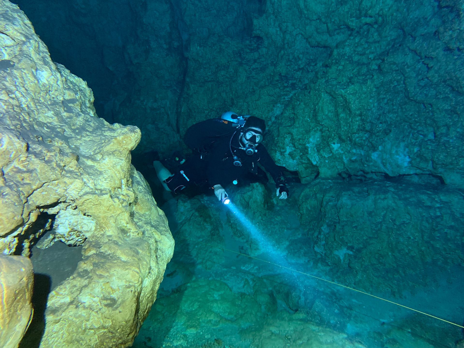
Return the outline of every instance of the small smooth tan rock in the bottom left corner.
<path id="1" fill-rule="evenodd" d="M 0 346 L 16 348 L 32 318 L 32 264 L 23 256 L 0 255 Z"/>

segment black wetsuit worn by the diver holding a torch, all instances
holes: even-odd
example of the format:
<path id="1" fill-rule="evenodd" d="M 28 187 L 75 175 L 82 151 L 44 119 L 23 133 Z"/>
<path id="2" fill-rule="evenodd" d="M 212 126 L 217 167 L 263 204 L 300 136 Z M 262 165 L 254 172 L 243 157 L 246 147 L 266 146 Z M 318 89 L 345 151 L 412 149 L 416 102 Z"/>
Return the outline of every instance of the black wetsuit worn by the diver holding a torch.
<path id="1" fill-rule="evenodd" d="M 237 127 L 237 123 L 215 118 L 187 129 L 184 141 L 193 150 L 193 156 L 165 180 L 171 191 L 179 193 L 191 185 L 226 187 L 232 183 L 240 184 L 250 173 L 258 173 L 258 164 L 271 174 L 276 184 L 284 184 L 281 167 L 272 160 L 264 145 L 259 144 L 253 155 L 246 155 L 240 148 L 241 129 Z M 241 161 L 241 166 L 233 164 L 234 156 Z"/>

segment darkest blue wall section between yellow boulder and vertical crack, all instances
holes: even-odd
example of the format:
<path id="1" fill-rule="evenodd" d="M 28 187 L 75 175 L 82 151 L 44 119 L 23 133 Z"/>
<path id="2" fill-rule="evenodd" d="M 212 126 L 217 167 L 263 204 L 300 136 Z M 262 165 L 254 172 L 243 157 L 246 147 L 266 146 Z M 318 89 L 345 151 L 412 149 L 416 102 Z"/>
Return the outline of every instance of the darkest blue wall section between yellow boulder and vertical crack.
<path id="1" fill-rule="evenodd" d="M 88 82 L 98 116 L 111 123 L 130 120 L 141 129 L 136 151 L 155 147 L 170 153 L 178 146 L 177 110 L 187 65 L 175 1 L 71 0 L 60 4 L 59 13 L 47 2 L 16 3 L 53 60 Z"/>

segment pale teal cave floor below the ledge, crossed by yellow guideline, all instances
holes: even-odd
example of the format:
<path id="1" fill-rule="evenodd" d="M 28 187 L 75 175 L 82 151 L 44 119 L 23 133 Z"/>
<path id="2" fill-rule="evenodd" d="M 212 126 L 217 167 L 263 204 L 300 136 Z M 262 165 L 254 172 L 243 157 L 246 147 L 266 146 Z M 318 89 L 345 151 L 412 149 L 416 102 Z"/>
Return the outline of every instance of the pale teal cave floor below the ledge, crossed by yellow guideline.
<path id="1" fill-rule="evenodd" d="M 296 219 L 291 207 L 279 209 Z M 301 228 L 297 222 L 290 226 Z M 211 245 L 172 230 L 174 257 L 133 348 L 454 348 L 463 338 L 458 326 L 311 277 L 326 278 L 324 269 L 291 255 L 250 258 L 227 228 L 221 232 L 227 249 L 217 248 L 214 259 L 198 258 Z M 282 262 L 305 274 L 275 265 Z M 463 271 L 440 274 L 419 291 L 373 295 L 462 324 Z"/>

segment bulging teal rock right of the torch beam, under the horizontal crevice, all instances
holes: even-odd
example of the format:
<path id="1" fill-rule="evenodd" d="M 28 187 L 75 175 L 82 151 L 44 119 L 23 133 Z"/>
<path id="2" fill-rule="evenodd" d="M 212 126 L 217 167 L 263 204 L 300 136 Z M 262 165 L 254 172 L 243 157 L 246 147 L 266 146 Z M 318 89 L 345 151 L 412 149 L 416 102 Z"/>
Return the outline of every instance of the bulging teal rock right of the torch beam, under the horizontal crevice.
<path id="1" fill-rule="evenodd" d="M 316 180 L 297 202 L 309 244 L 295 239 L 287 251 L 303 252 L 343 284 L 398 294 L 464 265 L 464 201 L 455 188 Z"/>

